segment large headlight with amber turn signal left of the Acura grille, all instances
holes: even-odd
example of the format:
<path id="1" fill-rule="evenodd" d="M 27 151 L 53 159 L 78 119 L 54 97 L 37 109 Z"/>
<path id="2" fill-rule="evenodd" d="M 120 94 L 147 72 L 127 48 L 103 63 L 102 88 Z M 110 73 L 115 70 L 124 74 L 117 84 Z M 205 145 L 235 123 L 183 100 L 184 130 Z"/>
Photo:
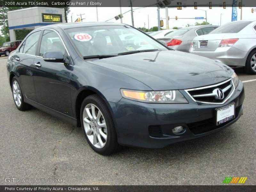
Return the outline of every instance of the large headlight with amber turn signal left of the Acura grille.
<path id="1" fill-rule="evenodd" d="M 145 103 L 188 103 L 180 91 L 136 91 L 121 89 L 124 98 Z"/>

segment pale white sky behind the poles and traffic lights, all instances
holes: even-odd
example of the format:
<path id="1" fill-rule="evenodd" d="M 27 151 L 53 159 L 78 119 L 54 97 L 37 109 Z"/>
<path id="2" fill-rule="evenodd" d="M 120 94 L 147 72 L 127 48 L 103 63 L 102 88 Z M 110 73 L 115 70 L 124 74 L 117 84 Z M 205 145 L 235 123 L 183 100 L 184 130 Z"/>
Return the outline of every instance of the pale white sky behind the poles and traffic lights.
<path id="1" fill-rule="evenodd" d="M 255 8 L 255 7 L 254 7 Z M 145 27 L 149 28 L 157 26 L 157 8 L 156 7 L 146 7 L 137 8 L 133 7 L 133 17 L 134 17 L 134 27 Z M 182 7 L 182 10 L 177 10 L 177 8 L 168 8 L 168 15 L 170 18 L 178 17 L 178 20 L 170 19 L 169 28 L 172 27 L 186 27 L 187 24 L 195 25 L 196 22 L 203 22 L 205 20 L 195 20 L 195 19 L 179 19 L 179 18 L 195 18 L 204 17 L 205 11 L 207 12 L 207 22 L 212 25 L 220 25 L 220 14 L 221 15 L 221 25 L 231 22 L 232 7 L 198 7 L 197 10 L 194 7 Z M 256 20 L 256 12 L 251 12 L 252 7 L 243 7 L 242 20 Z M 129 11 L 130 7 L 122 7 L 122 13 Z M 85 18 L 83 22 L 97 21 L 96 17 L 96 7 L 70 7 L 70 13 L 68 14 L 68 22 L 71 22 L 71 14 L 73 22 L 77 19 L 77 14 L 84 14 L 82 18 Z M 120 14 L 120 7 L 98 7 L 98 18 L 99 21 L 106 21 L 114 18 L 116 15 Z M 237 20 L 240 20 L 241 9 L 237 7 Z M 131 12 L 123 14 L 123 23 L 132 25 Z M 80 16 L 79 16 L 80 17 Z M 164 20 L 165 28 L 165 8 L 160 9 L 160 17 Z M 148 22 L 149 18 L 149 22 Z M 119 20 L 109 20 L 109 22 L 119 22 Z"/>

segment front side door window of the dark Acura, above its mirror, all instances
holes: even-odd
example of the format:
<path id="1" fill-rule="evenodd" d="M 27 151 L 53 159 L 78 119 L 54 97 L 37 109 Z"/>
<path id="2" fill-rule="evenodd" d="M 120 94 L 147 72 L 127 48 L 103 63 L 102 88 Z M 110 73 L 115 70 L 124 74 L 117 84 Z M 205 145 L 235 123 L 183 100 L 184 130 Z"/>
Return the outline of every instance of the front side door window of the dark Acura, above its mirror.
<path id="1" fill-rule="evenodd" d="M 66 52 L 60 37 L 55 31 L 52 30 L 44 30 L 39 56 L 42 57 L 47 51 L 60 51 L 63 55 Z"/>

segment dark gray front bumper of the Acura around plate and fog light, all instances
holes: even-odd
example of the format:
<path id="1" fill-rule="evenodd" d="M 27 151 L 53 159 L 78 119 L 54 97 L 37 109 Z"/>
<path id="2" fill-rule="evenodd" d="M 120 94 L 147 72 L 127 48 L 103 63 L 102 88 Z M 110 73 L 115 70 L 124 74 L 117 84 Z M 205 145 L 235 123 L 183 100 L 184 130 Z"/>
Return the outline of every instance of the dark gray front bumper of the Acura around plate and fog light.
<path id="1" fill-rule="evenodd" d="M 185 97 L 189 97 L 185 95 Z M 244 87 L 240 81 L 232 97 L 223 105 L 199 104 L 189 100 L 187 104 L 151 104 L 127 99 L 109 102 L 116 126 L 118 143 L 144 148 L 163 148 L 171 143 L 202 137 L 235 123 L 243 114 Z M 215 109 L 228 103 L 236 103 L 234 120 L 215 125 Z M 172 133 L 172 128 L 183 126 L 186 132 Z"/>

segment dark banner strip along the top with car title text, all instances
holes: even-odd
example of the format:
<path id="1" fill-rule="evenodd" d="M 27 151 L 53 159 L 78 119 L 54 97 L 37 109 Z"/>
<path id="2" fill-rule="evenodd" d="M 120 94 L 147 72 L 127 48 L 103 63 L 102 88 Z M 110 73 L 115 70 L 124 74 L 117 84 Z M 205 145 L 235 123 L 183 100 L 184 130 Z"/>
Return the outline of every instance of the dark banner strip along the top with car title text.
<path id="1" fill-rule="evenodd" d="M 0 0 L 1 7 L 232 7 L 233 0 Z M 255 7 L 255 0 L 235 0 L 237 7 Z"/>

